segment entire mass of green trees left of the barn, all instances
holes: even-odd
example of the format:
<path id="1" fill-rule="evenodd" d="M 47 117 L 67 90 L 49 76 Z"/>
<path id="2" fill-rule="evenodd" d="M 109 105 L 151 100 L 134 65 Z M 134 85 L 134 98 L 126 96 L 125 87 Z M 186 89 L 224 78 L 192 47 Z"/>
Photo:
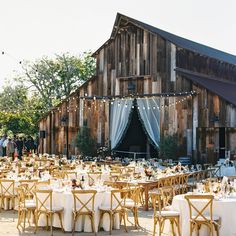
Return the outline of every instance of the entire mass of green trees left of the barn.
<path id="1" fill-rule="evenodd" d="M 0 133 L 36 134 L 42 114 L 92 77 L 95 68 L 90 52 L 25 62 L 24 73 L 14 80 L 18 83 L 0 93 Z"/>

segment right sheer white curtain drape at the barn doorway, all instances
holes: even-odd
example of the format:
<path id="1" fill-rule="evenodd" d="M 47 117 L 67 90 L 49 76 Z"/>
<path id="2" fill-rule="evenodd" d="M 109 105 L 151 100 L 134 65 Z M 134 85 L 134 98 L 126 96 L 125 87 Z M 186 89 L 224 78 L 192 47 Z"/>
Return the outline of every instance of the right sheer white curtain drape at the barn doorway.
<path id="1" fill-rule="evenodd" d="M 159 147 L 160 100 L 156 98 L 137 99 L 138 112 L 149 138 Z"/>

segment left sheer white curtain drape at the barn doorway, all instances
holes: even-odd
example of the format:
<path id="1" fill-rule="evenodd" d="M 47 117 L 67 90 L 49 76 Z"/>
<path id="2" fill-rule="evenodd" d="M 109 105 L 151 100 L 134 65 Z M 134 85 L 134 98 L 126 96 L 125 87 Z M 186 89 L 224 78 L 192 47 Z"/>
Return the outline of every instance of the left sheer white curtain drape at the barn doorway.
<path id="1" fill-rule="evenodd" d="M 133 100 L 115 100 L 110 109 L 110 142 L 114 149 L 120 142 L 129 122 Z"/>

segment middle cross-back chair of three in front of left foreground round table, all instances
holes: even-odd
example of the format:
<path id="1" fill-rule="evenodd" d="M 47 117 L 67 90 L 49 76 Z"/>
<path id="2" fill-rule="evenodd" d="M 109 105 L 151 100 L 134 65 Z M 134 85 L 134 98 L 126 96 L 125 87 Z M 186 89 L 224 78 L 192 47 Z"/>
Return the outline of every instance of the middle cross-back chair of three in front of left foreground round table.
<path id="1" fill-rule="evenodd" d="M 74 199 L 74 209 L 73 209 L 73 230 L 72 235 L 75 233 L 75 224 L 79 216 L 89 216 L 91 220 L 92 231 L 96 235 L 96 229 L 94 224 L 94 201 L 96 190 L 72 190 Z"/>

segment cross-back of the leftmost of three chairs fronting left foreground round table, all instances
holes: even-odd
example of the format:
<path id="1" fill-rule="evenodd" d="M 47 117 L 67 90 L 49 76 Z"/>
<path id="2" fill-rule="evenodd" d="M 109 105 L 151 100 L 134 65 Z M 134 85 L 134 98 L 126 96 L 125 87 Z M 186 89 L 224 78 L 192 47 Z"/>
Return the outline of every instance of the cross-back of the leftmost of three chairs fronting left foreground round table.
<path id="1" fill-rule="evenodd" d="M 36 189 L 34 191 L 36 200 L 36 210 L 38 212 L 52 211 L 52 190 Z"/>

